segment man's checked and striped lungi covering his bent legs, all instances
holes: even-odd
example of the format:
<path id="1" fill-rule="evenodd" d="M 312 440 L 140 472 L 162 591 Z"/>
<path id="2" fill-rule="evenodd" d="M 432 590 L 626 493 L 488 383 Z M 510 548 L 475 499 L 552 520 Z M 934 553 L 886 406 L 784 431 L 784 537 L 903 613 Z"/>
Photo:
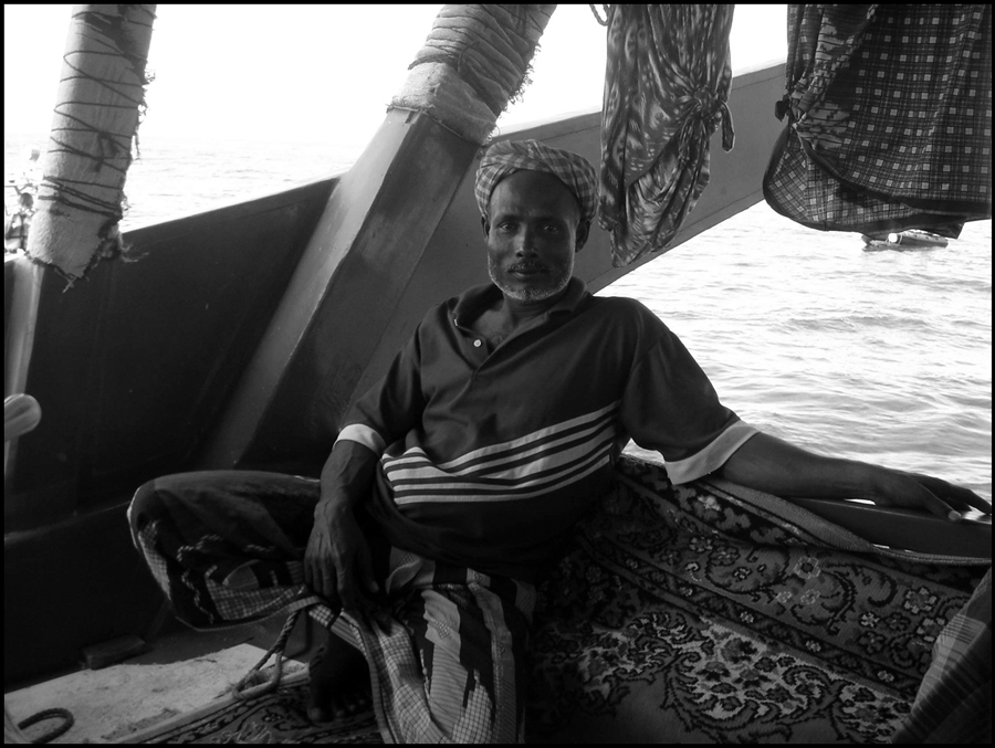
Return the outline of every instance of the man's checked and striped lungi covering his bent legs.
<path id="1" fill-rule="evenodd" d="M 185 473 L 142 486 L 128 517 L 177 617 L 216 628 L 263 619 L 312 594 L 303 558 L 318 498 L 312 478 Z M 381 604 L 337 620 L 325 608 L 315 618 L 366 656 L 384 740 L 521 741 L 534 587 L 367 537 Z"/>

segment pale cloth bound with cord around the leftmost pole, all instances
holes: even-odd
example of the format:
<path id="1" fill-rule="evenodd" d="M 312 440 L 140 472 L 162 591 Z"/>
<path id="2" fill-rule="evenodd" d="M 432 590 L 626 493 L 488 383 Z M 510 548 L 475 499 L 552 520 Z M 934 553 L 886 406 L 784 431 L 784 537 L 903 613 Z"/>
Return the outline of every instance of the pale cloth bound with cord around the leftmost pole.
<path id="1" fill-rule="evenodd" d="M 71 282 L 119 255 L 155 6 L 74 6 L 28 255 Z"/>

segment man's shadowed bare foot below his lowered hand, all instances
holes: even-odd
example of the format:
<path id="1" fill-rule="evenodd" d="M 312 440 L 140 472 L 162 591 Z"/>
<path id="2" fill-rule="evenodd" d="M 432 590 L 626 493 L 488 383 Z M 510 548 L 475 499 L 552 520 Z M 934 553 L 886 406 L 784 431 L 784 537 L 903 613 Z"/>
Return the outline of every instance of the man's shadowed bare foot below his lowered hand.
<path id="1" fill-rule="evenodd" d="M 323 723 L 342 719 L 369 708 L 369 670 L 359 650 L 335 634 L 311 664 L 307 717 Z"/>

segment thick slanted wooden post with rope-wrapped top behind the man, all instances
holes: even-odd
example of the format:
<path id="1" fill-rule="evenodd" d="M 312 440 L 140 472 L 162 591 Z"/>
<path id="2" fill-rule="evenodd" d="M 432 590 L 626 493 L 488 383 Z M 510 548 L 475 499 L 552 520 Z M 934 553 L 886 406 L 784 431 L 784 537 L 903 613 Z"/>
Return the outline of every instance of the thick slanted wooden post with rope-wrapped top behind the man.
<path id="1" fill-rule="evenodd" d="M 298 470 L 327 456 L 413 268 L 525 81 L 554 8 L 440 11 L 384 125 L 333 192 L 200 466 Z"/>

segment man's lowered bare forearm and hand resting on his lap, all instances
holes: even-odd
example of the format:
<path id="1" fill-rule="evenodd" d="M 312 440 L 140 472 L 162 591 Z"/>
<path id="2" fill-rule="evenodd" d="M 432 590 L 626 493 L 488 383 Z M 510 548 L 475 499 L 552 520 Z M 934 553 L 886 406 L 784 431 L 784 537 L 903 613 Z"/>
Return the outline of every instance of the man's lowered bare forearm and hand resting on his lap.
<path id="1" fill-rule="evenodd" d="M 322 468 L 322 497 L 304 552 L 304 581 L 333 607 L 359 607 L 375 592 L 369 546 L 355 508 L 369 497 L 379 457 L 348 440 L 336 442 Z"/>

